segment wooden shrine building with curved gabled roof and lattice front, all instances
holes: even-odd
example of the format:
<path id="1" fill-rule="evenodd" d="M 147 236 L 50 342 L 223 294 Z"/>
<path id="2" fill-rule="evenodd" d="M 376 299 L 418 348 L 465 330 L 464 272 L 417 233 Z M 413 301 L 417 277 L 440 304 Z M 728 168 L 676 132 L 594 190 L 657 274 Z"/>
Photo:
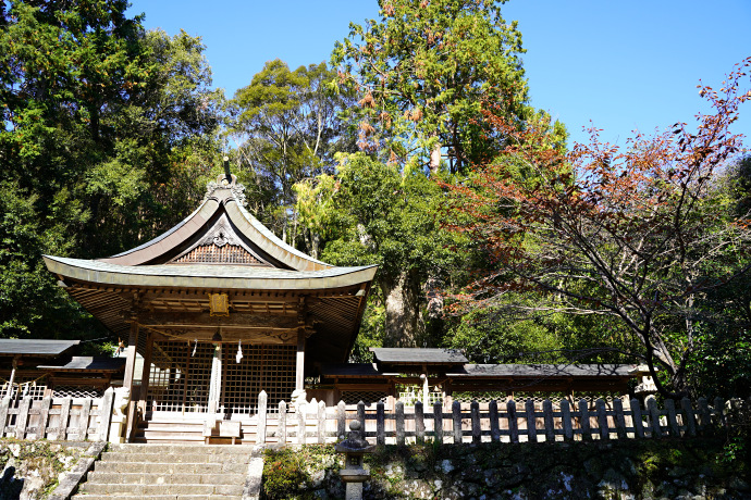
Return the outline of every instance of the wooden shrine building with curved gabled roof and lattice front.
<path id="1" fill-rule="evenodd" d="M 120 254 L 45 257 L 60 286 L 127 339 L 123 386 L 141 418 L 254 415 L 261 390 L 274 408 L 321 365 L 347 361 L 378 267 L 292 248 L 244 208 L 243 189 L 221 175 L 183 222 Z"/>

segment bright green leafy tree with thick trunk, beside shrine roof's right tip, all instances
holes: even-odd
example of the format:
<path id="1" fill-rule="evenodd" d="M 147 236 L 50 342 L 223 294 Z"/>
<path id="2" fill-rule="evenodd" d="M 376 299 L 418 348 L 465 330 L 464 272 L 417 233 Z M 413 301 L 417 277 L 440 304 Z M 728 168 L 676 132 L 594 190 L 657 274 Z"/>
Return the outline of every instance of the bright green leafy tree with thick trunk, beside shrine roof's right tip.
<path id="1" fill-rule="evenodd" d="M 396 165 L 362 152 L 340 160 L 335 176 L 297 185 L 303 220 L 328 241 L 325 261 L 380 266 L 385 346 L 433 343 L 424 329 L 424 284 L 446 278 L 446 270 L 461 259 L 454 251 L 459 238 L 439 227 L 438 185 L 420 172 L 404 176 Z"/>

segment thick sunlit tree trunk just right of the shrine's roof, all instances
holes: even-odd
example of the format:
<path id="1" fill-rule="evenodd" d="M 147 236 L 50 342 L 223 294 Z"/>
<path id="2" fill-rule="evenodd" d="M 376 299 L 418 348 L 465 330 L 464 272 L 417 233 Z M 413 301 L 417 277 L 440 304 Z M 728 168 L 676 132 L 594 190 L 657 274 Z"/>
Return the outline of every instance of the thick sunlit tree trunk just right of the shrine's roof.
<path id="1" fill-rule="evenodd" d="M 383 347 L 417 347 L 422 326 L 419 284 L 410 273 L 381 279 L 386 302 L 386 325 Z"/>

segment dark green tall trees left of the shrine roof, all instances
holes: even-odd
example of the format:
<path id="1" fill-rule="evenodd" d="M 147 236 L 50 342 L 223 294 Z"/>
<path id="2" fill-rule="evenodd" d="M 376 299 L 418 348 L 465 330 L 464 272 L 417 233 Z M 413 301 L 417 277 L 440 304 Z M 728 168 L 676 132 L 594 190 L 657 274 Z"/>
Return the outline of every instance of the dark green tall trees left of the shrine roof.
<path id="1" fill-rule="evenodd" d="M 178 221 L 176 202 L 195 196 L 186 162 L 211 149 L 197 138 L 219 123 L 204 47 L 146 34 L 126 8 L 11 0 L 0 10 L 2 337 L 101 334 L 41 254 L 121 251 Z"/>

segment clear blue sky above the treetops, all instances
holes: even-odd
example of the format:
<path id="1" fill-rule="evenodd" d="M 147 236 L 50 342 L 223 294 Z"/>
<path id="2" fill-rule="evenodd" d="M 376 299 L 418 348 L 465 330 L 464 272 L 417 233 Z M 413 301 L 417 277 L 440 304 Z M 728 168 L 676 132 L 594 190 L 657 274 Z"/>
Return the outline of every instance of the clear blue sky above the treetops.
<path id="1" fill-rule="evenodd" d="M 202 37 L 214 85 L 231 97 L 266 61 L 291 67 L 329 59 L 350 21 L 378 16 L 376 0 L 132 0 L 147 28 Z M 751 55 L 751 1 L 512 0 L 519 22 L 531 104 L 586 141 L 590 121 L 620 146 L 631 130 L 651 133 L 706 111 L 700 80 L 718 86 Z M 734 132 L 751 137 L 751 103 Z M 751 139 L 746 140 L 751 145 Z"/>

